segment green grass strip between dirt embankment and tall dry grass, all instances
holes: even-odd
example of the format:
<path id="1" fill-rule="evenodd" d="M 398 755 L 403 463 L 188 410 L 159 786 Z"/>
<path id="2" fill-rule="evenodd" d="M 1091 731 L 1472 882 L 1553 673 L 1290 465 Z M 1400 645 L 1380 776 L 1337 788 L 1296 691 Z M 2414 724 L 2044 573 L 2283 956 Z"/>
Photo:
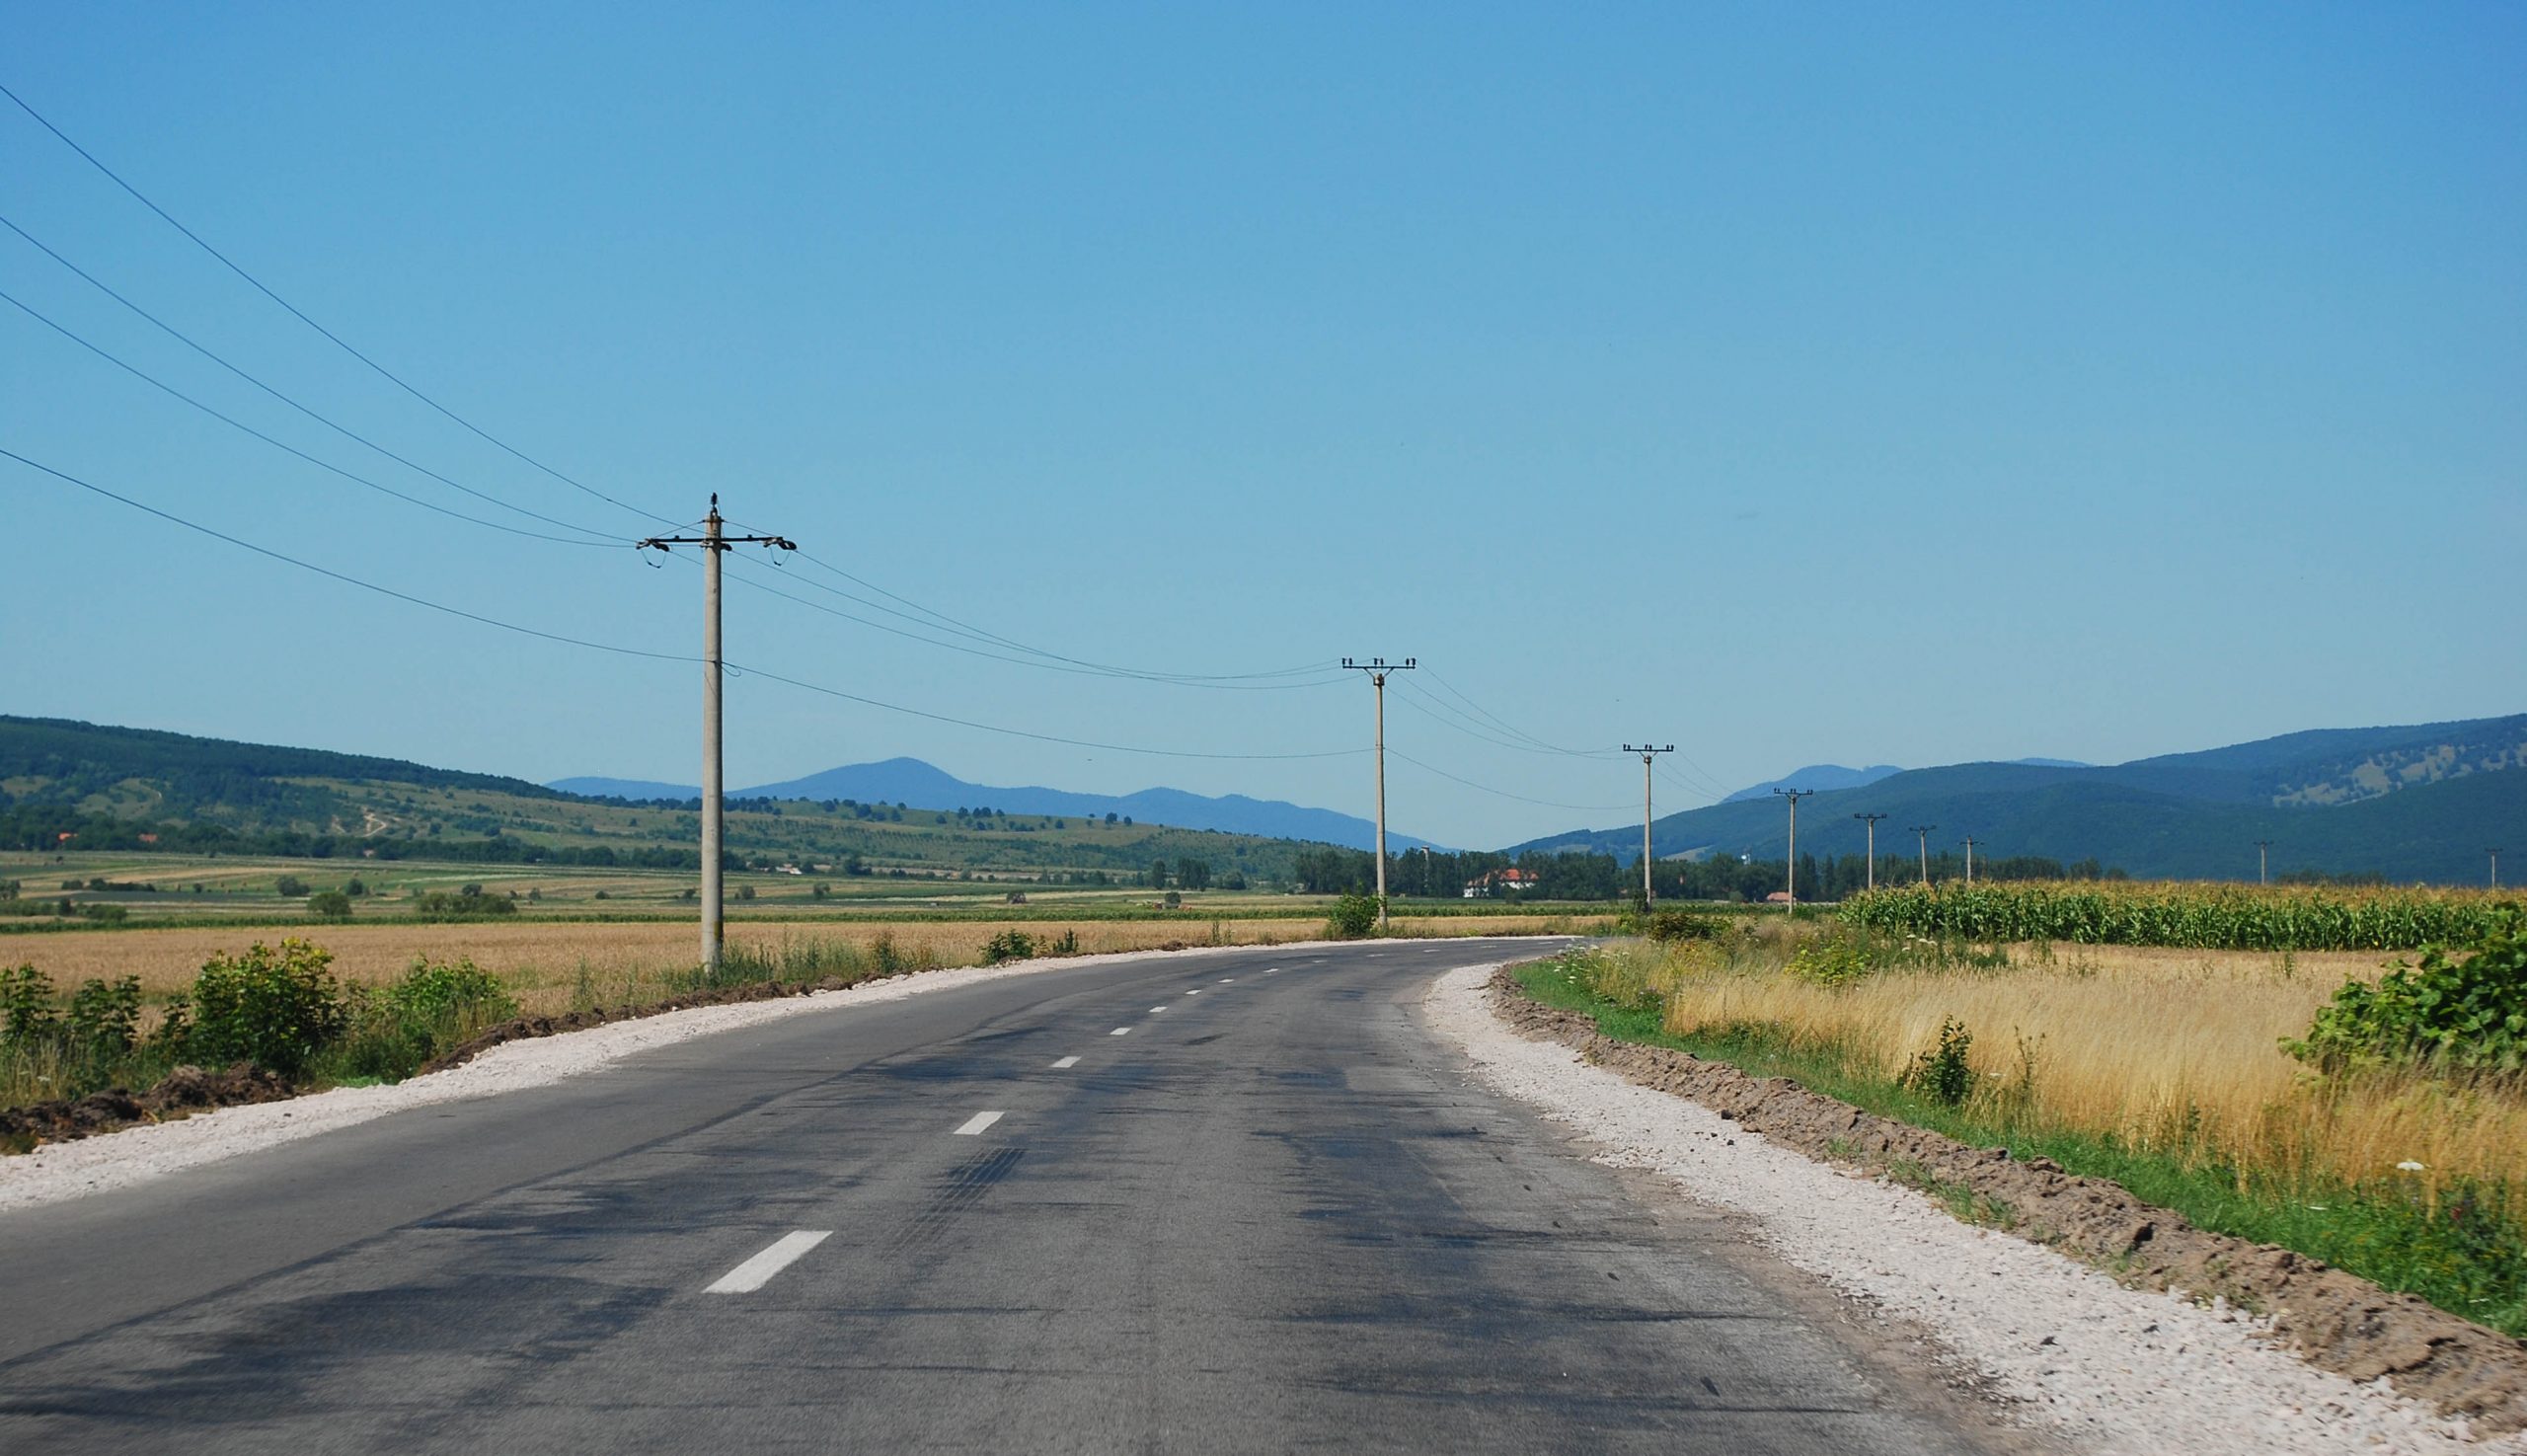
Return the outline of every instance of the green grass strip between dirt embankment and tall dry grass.
<path id="1" fill-rule="evenodd" d="M 2070 1127 L 2032 1127 L 1966 1102 L 1946 1107 L 1893 1079 L 1857 1072 L 1830 1046 L 1799 1046 L 1764 1026 L 1726 1034 L 1673 1034 L 1655 1006 L 1622 1006 L 1600 996 L 1574 956 L 1514 971 L 1519 986 L 1559 1011 L 1577 1011 L 1617 1041 L 1668 1046 L 1726 1062 L 1751 1077 L 1789 1077 L 1809 1092 L 1862 1112 L 1928 1127 L 2011 1158 L 2052 1158 L 2065 1173 L 2105 1178 L 2193 1226 L 2257 1244 L 2279 1244 L 2512 1337 L 2527 1337 L 2527 1226 L 2497 1191 L 2461 1191 L 2428 1206 L 2411 1191 L 2348 1183 L 2282 1183 L 2234 1168 L 2145 1153 L 2115 1138 Z M 1951 1211 L 1958 1201 L 1933 1191 Z M 2006 1226 L 1999 1211 L 1958 1216 Z"/>

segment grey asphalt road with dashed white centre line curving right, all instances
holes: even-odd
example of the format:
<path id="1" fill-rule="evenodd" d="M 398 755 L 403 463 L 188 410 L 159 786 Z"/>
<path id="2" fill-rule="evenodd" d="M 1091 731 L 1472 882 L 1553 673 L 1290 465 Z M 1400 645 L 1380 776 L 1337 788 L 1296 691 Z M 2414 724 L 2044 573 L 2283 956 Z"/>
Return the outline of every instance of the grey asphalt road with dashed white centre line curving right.
<path id="1" fill-rule="evenodd" d="M 0 1451 L 1986 1451 L 1461 1072 L 1501 943 L 1150 956 L 0 1216 Z"/>

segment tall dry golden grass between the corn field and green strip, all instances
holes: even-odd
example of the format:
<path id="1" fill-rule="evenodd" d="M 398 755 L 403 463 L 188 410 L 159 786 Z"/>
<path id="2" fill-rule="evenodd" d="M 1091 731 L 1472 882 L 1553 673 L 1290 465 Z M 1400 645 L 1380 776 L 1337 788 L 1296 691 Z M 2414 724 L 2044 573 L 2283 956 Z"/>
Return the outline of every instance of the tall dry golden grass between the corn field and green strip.
<path id="1" fill-rule="evenodd" d="M 2375 953 L 2011 945 L 2006 968 L 1923 966 L 1819 986 L 1784 971 L 1794 950 L 1784 930 L 1632 950 L 1625 976 L 1665 998 L 1670 1031 L 1759 1024 L 1883 1077 L 1956 1019 L 1974 1031 L 1984 1097 L 2014 1100 L 2011 1117 L 2196 1165 L 2363 1183 L 2423 1163 L 2418 1178 L 2434 1191 L 2474 1178 L 2527 1193 L 2517 1087 L 2378 1077 L 2325 1089 L 2279 1049 L 2345 978 L 2373 978 Z"/>

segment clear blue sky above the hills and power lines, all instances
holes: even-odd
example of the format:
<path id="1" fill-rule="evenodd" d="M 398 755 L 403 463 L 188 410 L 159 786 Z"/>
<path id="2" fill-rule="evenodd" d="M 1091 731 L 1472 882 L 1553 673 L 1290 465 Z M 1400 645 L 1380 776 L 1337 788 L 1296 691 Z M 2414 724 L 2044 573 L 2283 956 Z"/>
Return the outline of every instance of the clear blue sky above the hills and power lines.
<path id="1" fill-rule="evenodd" d="M 0 81 L 134 187 L 639 511 L 720 490 L 1094 662 L 1418 655 L 1390 801 L 1440 842 L 1637 794 L 1627 758 L 1463 731 L 1443 685 L 1554 746 L 1678 743 L 1663 809 L 1809 761 L 2527 705 L 2517 8 L 10 0 L 0 28 Z M 657 528 L 399 394 L 5 104 L 0 174 L 0 215 L 308 410 L 510 506 Z M 10 233 L 0 288 L 311 455 L 543 528 Z M 344 483 L 10 306 L 0 445 L 397 592 L 697 650 L 690 564 Z M 440 617 L 8 460 L 0 508 L 5 710 L 695 776 L 690 662 Z M 786 571 L 738 574 L 869 617 Z M 1357 680 L 1054 672 L 753 586 L 728 657 L 1119 746 L 1370 731 Z M 1137 756 L 730 682 L 733 784 L 895 753 L 1367 811 L 1360 753 Z"/>

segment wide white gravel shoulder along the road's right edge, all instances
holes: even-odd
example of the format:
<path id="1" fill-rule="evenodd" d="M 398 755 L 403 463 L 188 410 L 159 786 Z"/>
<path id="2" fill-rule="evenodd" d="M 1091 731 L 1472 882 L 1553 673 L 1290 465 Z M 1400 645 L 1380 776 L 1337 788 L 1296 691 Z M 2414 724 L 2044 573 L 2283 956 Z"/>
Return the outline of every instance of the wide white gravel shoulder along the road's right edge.
<path id="1" fill-rule="evenodd" d="M 1734 1208 L 1787 1264 L 1913 1320 L 2027 1426 L 2082 1451 L 2150 1456 L 2527 1456 L 2522 1436 L 2469 1441 L 2461 1423 L 2385 1383 L 2317 1370 L 2234 1309 L 2125 1289 L 2024 1239 L 1958 1223 L 1910 1188 L 1842 1173 L 1569 1046 L 1529 1041 L 1493 1016 L 1488 978 L 1491 968 L 1448 971 L 1425 1001 L 1483 1082 L 1605 1145 L 1600 1163 L 1650 1168 Z"/>

